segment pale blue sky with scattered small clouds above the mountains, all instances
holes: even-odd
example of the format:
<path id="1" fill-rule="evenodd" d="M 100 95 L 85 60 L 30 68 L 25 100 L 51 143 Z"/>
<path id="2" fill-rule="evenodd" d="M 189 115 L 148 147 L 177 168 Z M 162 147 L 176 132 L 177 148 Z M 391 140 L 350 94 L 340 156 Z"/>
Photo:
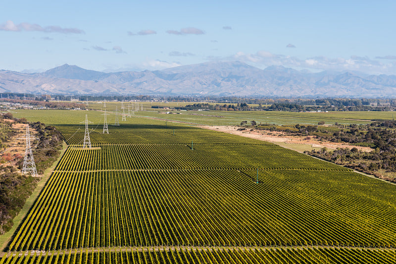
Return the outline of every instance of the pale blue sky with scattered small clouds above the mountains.
<path id="1" fill-rule="evenodd" d="M 2 1 L 0 69 L 68 63 L 160 70 L 239 60 L 258 68 L 396 74 L 396 1 Z"/>

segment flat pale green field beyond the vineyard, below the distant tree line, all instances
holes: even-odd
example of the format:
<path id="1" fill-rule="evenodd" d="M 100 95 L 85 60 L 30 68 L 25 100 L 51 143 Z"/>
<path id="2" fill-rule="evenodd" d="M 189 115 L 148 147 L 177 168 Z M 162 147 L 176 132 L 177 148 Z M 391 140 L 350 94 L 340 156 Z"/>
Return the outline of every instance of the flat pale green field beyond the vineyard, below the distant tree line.
<path id="1" fill-rule="evenodd" d="M 107 104 L 107 103 L 106 103 Z M 110 105 L 111 106 L 111 105 Z M 114 124 L 115 108 L 107 107 L 109 115 L 107 122 Z M 120 105 L 121 106 L 121 105 Z M 99 107 L 100 108 L 100 107 Z M 348 112 L 285 112 L 285 111 L 171 111 L 151 109 L 150 111 L 137 111 L 131 118 L 122 121 L 122 111 L 118 111 L 120 124 L 150 124 L 164 125 L 166 120 L 181 121 L 201 125 L 236 125 L 241 121 L 255 120 L 257 123 L 270 123 L 277 125 L 310 124 L 316 125 L 319 121 L 325 124 L 365 124 L 371 123 L 373 119 L 393 119 L 394 112 L 374 111 L 348 111 Z M 128 112 L 127 109 L 125 111 Z M 42 120 L 41 122 L 51 125 L 76 125 L 85 120 L 88 114 L 90 121 L 102 126 L 103 112 L 99 110 L 23 110 L 11 111 L 16 117 L 26 117 L 28 120 Z M 179 114 L 178 114 L 179 113 Z M 59 118 L 61 116 L 62 118 Z M 159 120 L 148 119 L 156 118 Z M 175 124 L 173 124 L 175 125 Z"/>

